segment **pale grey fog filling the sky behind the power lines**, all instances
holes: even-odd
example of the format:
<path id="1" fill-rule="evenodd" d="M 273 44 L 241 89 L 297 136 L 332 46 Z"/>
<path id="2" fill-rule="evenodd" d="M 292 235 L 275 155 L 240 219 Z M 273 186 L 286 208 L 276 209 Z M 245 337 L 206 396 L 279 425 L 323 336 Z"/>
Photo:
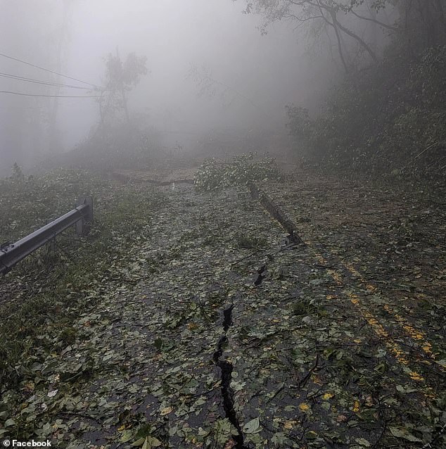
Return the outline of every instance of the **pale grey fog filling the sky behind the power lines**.
<path id="1" fill-rule="evenodd" d="M 231 0 L 1 1 L 1 53 L 103 86 L 105 58 L 146 56 L 148 75 L 129 92 L 132 118 L 144 117 L 164 146 L 193 150 L 215 130 L 272 129 L 286 134 L 286 104 L 312 107 L 336 70 L 305 54 L 305 39 L 289 23 L 260 33 L 260 18 Z M 0 72 L 44 82 L 88 84 L 0 56 Z M 212 81 L 200 89 L 191 70 Z M 1 77 L 1 91 L 32 95 L 95 95 Z M 69 151 L 98 124 L 96 99 L 0 94 L 0 170 L 30 167 Z"/>

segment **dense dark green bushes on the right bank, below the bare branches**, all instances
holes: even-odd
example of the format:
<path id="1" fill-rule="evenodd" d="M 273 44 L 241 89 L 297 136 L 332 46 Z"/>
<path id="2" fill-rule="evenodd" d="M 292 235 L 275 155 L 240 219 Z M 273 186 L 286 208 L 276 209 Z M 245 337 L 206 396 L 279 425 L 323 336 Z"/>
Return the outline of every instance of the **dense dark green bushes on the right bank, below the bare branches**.
<path id="1" fill-rule="evenodd" d="M 333 89 L 314 120 L 289 106 L 288 127 L 305 158 L 326 167 L 442 176 L 445 67 L 446 46 L 416 61 L 389 47 L 383 61 Z"/>

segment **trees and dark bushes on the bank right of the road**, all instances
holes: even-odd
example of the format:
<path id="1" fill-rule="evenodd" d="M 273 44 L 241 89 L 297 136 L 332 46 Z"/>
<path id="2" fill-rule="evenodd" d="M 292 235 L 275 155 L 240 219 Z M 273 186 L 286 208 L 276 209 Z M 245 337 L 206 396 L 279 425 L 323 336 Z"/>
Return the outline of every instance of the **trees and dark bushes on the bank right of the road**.
<path id="1" fill-rule="evenodd" d="M 444 183 L 444 0 L 246 0 L 244 12 L 262 17 L 264 34 L 292 23 L 338 66 L 320 107 L 287 107 L 302 165 Z"/>

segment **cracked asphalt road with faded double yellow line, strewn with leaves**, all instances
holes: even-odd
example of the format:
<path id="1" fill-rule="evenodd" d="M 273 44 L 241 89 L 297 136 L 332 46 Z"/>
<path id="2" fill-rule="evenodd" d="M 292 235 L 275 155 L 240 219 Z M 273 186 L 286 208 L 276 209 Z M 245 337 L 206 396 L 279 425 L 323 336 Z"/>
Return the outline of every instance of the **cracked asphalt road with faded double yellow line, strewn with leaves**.
<path id="1" fill-rule="evenodd" d="M 441 447 L 444 206 L 303 173 L 258 185 L 303 243 L 246 188 L 160 187 L 169 201 L 128 268 L 143 280 L 79 316 L 78 343 L 33 399 L 65 401 L 49 436 L 70 448 Z"/>

